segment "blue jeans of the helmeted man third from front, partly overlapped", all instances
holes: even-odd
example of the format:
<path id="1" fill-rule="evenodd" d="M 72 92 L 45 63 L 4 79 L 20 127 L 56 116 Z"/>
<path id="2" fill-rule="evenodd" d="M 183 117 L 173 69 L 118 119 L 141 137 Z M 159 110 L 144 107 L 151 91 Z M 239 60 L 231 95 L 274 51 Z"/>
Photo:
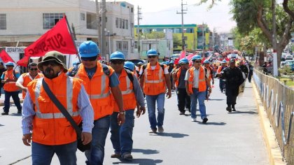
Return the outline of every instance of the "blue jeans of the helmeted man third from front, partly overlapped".
<path id="1" fill-rule="evenodd" d="M 125 110 L 125 123 L 118 125 L 118 113 L 111 115 L 111 143 L 116 154 L 132 152 L 134 110 Z"/>

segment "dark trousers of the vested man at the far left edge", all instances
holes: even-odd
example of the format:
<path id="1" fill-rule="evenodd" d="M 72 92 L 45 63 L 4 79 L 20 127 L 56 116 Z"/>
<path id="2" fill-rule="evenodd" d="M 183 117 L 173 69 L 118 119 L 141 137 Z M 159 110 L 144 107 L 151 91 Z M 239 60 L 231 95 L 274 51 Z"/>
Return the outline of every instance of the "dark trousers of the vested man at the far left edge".
<path id="1" fill-rule="evenodd" d="M 18 108 L 18 111 L 19 112 L 22 111 L 22 105 L 20 105 L 20 97 L 18 96 L 19 93 L 20 93 L 19 91 L 15 91 L 15 92 L 4 91 L 4 94 L 5 94 L 4 108 L 3 108 L 4 112 L 6 112 L 6 113 L 9 112 L 10 96 L 12 96 L 13 102 L 14 102 L 15 106 Z"/>

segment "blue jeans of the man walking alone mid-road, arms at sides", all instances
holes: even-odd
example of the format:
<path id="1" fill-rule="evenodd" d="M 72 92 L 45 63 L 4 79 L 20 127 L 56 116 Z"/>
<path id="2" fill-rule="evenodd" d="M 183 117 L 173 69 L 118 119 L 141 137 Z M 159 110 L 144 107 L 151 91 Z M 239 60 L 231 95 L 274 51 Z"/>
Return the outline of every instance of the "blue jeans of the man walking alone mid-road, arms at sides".
<path id="1" fill-rule="evenodd" d="M 156 129 L 156 126 L 162 127 L 165 118 L 165 93 L 158 95 L 146 95 L 148 117 L 151 129 Z M 158 120 L 156 121 L 155 104 L 158 102 Z"/>

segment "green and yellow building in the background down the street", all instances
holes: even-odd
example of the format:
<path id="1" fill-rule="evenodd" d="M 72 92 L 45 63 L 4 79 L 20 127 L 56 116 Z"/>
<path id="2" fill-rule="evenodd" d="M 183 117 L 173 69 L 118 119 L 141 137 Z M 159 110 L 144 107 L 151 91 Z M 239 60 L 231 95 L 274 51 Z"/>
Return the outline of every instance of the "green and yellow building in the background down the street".
<path id="1" fill-rule="evenodd" d="M 182 42 L 182 29 L 181 24 L 153 24 L 153 25 L 139 25 L 139 31 L 141 34 L 152 33 L 152 31 L 165 32 L 166 29 L 172 30 L 174 41 Z M 138 26 L 134 28 L 135 36 L 138 33 Z M 211 31 L 207 24 L 184 24 L 183 36 L 185 40 L 185 47 L 187 51 L 195 51 L 197 49 L 209 50 L 211 48 Z M 181 45 L 174 44 L 174 52 L 180 51 Z"/>

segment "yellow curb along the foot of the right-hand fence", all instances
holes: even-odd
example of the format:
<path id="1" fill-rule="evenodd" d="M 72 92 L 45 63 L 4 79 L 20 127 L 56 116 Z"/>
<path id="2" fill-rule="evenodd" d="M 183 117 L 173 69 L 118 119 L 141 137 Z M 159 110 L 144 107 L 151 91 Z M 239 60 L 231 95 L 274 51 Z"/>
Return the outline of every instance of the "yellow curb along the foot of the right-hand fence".
<path id="1" fill-rule="evenodd" d="M 260 118 L 260 125 L 262 128 L 263 138 L 265 140 L 265 144 L 267 145 L 269 164 L 286 165 L 286 162 L 283 162 L 281 149 L 279 148 L 279 144 L 276 141 L 274 130 L 272 129 L 272 125 L 270 124 L 269 119 L 267 118 L 267 113 L 265 113 L 265 108 L 262 106 L 262 102 L 258 94 L 258 89 L 256 88 L 254 82 L 252 83 L 252 87 L 253 94 L 255 96 L 255 103 L 258 108 L 258 115 Z"/>

